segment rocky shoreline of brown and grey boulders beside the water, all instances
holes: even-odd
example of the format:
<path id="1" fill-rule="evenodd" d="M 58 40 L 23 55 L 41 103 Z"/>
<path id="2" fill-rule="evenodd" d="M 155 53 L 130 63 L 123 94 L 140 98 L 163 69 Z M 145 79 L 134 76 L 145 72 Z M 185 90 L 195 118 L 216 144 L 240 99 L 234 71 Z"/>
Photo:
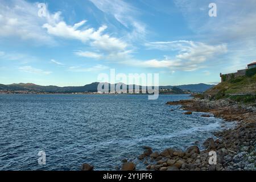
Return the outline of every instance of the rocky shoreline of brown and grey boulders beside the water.
<path id="1" fill-rule="evenodd" d="M 212 113 L 214 117 L 225 121 L 237 121 L 234 129 L 214 133 L 217 138 L 204 141 L 204 150 L 198 146 L 188 147 L 187 150 L 167 148 L 162 152 L 152 151 L 151 147 L 144 147 L 143 154 L 138 156 L 148 170 L 159 171 L 230 171 L 256 170 L 256 108 L 254 105 L 237 104 L 230 100 L 209 101 L 181 100 L 167 102 L 167 105 L 181 105 L 186 110 L 184 114 L 192 112 Z M 204 114 L 202 117 L 209 117 Z M 216 164 L 212 161 L 214 151 L 217 154 Z M 122 170 L 135 169 L 134 163 L 123 163 Z"/>

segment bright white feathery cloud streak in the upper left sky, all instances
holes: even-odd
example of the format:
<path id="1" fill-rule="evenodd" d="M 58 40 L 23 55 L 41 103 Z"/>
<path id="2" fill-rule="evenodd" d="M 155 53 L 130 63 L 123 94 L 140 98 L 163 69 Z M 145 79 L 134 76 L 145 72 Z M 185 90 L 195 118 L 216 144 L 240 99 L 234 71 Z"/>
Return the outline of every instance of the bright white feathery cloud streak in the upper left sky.
<path id="1" fill-rule="evenodd" d="M 43 25 L 47 28 L 48 34 L 59 36 L 65 39 L 76 39 L 83 43 L 88 43 L 92 48 L 98 51 L 104 52 L 106 55 L 118 55 L 127 52 L 128 44 L 122 40 L 114 37 L 110 37 L 108 34 L 103 34 L 106 30 L 106 26 L 101 26 L 98 30 L 94 28 L 87 28 L 79 30 L 78 28 L 86 23 L 85 20 L 76 23 L 74 26 L 67 25 L 64 21 L 59 23 Z M 99 59 L 101 55 L 96 55 L 92 52 L 75 52 L 76 55 L 93 57 Z"/>

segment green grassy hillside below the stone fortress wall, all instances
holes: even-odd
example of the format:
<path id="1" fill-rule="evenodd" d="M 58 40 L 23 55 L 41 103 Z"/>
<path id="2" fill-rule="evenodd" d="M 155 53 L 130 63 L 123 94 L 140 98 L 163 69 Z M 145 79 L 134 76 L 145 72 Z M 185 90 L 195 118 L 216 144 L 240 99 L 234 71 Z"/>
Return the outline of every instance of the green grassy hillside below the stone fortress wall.
<path id="1" fill-rule="evenodd" d="M 205 91 L 205 94 L 213 99 L 231 98 L 235 101 L 255 101 L 256 68 L 248 69 L 245 76 L 221 82 Z"/>

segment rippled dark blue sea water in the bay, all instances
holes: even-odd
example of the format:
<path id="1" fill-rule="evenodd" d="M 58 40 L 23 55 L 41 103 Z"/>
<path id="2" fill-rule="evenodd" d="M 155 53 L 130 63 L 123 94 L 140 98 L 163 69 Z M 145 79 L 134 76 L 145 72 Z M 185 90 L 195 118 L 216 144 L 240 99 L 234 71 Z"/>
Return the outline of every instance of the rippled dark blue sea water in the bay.
<path id="1" fill-rule="evenodd" d="M 0 170 L 115 170 L 122 159 L 137 163 L 142 146 L 185 149 L 231 123 L 202 113 L 182 114 L 167 101 L 188 95 L 0 95 Z M 171 111 L 173 109 L 174 111 Z M 38 164 L 38 152 L 46 164 Z"/>

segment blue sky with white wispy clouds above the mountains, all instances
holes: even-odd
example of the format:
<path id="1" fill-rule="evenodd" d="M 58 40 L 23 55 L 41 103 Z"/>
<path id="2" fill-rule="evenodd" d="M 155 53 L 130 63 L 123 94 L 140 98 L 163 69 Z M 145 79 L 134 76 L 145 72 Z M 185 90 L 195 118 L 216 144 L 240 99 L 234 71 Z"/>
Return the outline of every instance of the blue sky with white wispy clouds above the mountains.
<path id="1" fill-rule="evenodd" d="M 160 85 L 217 84 L 256 60 L 255 8 L 253 0 L 0 0 L 0 84 L 81 86 L 110 69 L 159 73 Z"/>

